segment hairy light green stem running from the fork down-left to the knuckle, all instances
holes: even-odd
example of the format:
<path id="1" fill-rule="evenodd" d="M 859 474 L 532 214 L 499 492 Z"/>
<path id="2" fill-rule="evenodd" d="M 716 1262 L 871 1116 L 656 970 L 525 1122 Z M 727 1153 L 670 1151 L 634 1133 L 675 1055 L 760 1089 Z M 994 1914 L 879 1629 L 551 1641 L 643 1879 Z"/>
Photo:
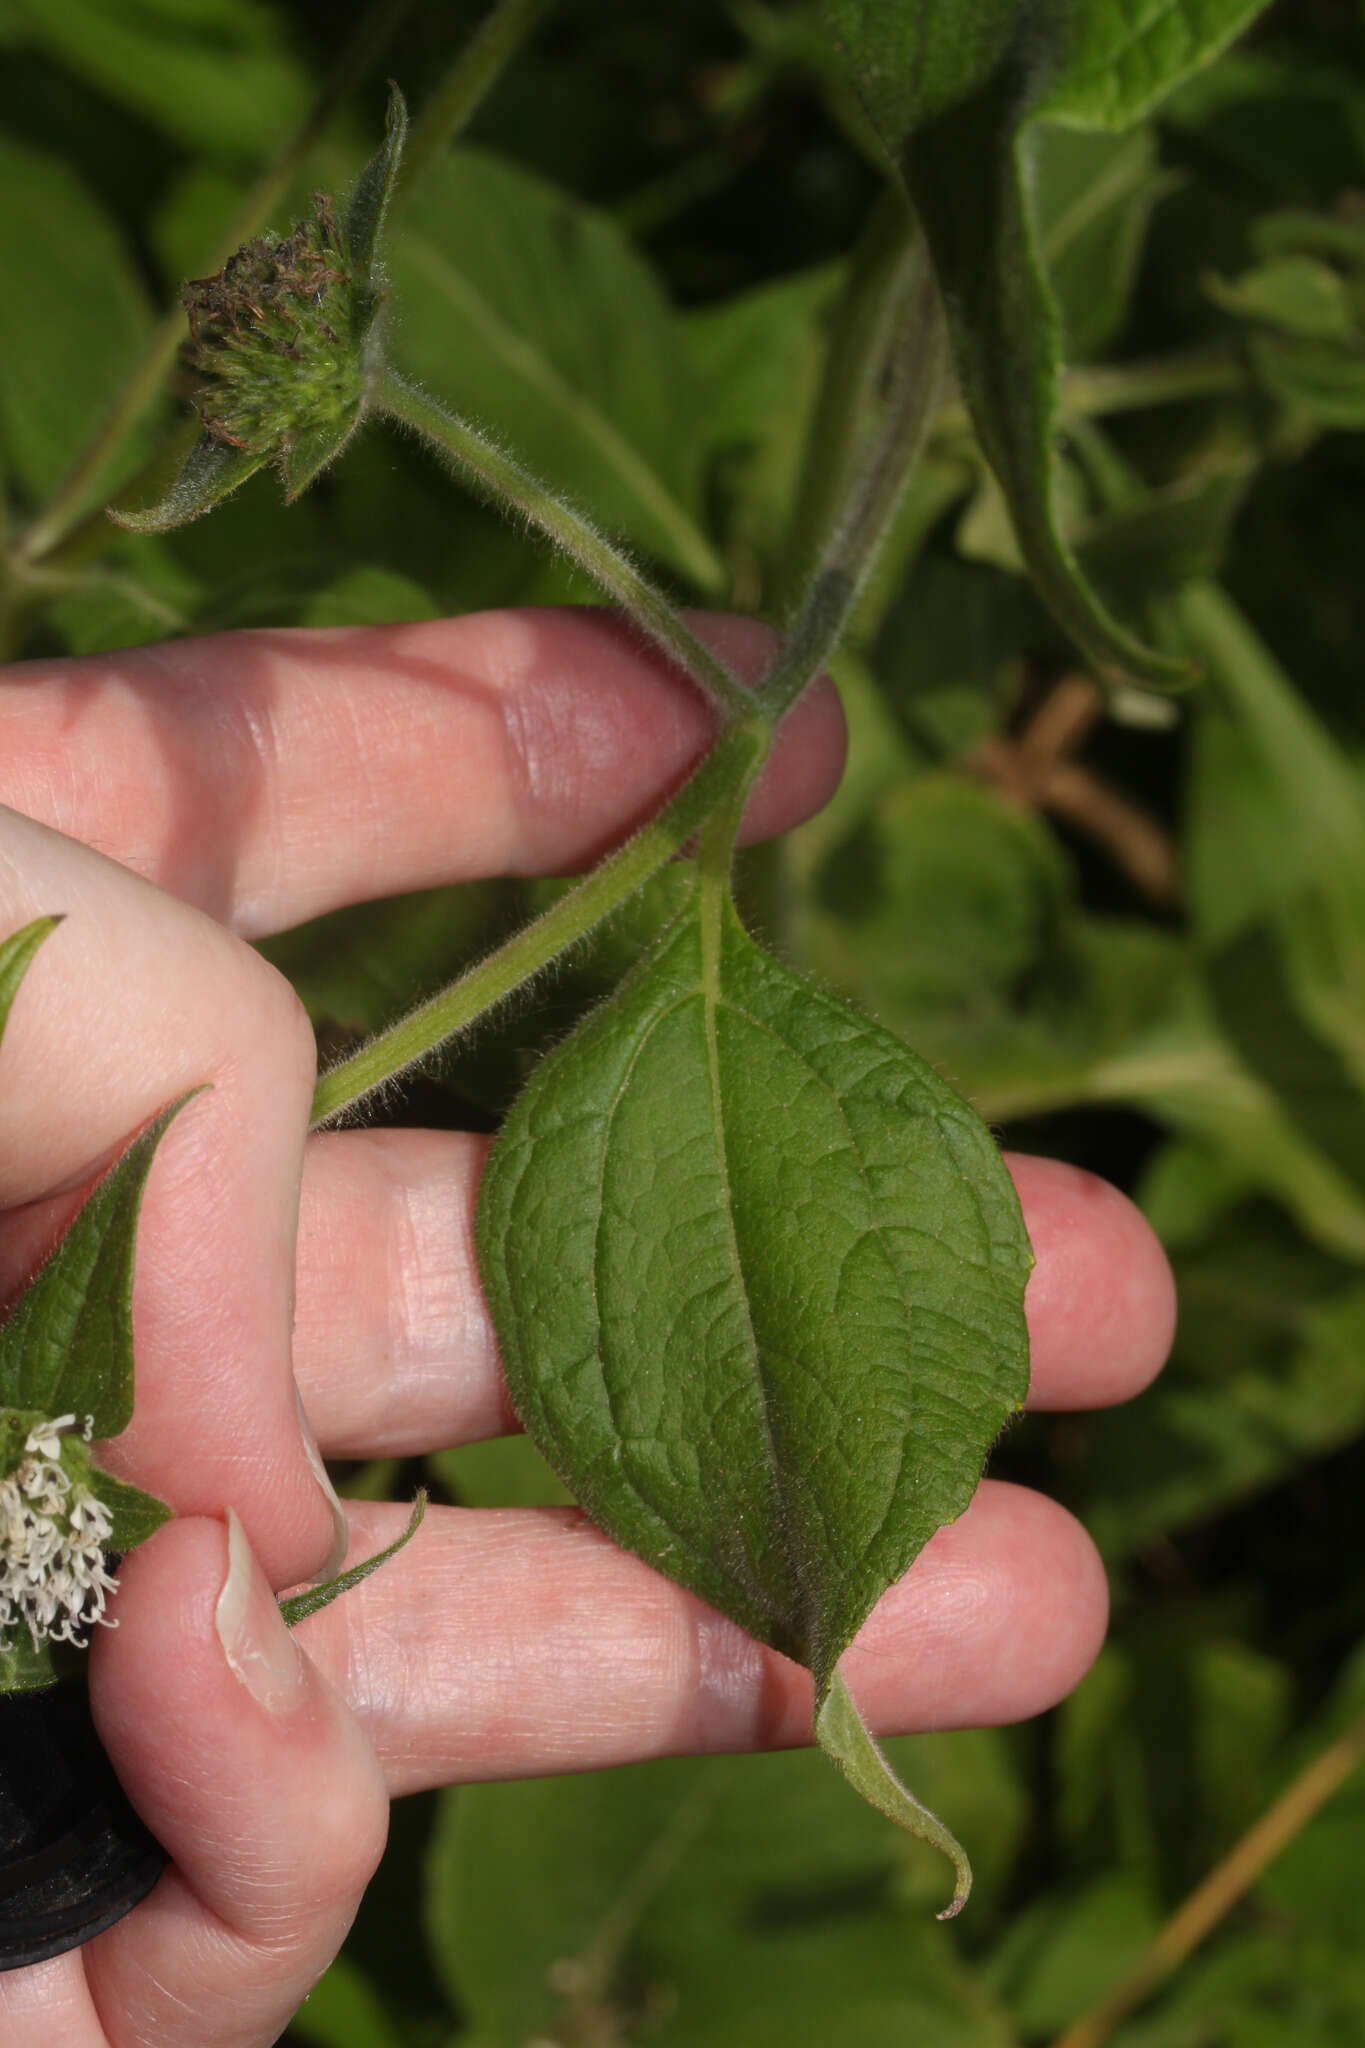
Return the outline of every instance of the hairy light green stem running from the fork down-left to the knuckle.
<path id="1" fill-rule="evenodd" d="M 749 705 L 745 717 L 726 727 L 677 795 L 620 852 L 450 987 L 323 1073 L 313 1094 L 313 1128 L 340 1116 L 377 1087 L 385 1087 L 446 1038 L 467 1030 L 602 924 L 686 846 L 735 788 L 749 784 L 769 743 L 772 729 Z"/>

